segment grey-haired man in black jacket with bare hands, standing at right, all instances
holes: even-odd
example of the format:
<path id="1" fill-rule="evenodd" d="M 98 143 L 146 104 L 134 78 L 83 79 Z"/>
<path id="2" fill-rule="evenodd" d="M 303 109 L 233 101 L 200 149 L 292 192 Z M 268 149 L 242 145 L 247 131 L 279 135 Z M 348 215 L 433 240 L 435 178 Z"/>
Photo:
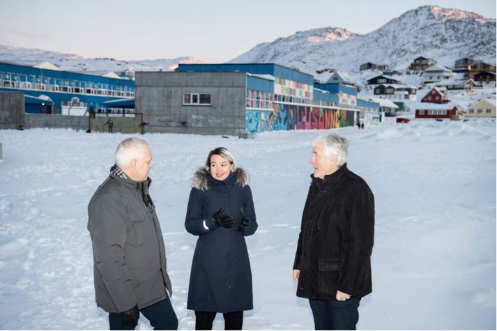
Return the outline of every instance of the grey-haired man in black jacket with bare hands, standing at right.
<path id="1" fill-rule="evenodd" d="M 322 134 L 313 146 L 293 280 L 297 295 L 309 299 L 316 330 L 355 330 L 360 298 L 372 292 L 374 197 L 347 169 L 346 139 Z"/>

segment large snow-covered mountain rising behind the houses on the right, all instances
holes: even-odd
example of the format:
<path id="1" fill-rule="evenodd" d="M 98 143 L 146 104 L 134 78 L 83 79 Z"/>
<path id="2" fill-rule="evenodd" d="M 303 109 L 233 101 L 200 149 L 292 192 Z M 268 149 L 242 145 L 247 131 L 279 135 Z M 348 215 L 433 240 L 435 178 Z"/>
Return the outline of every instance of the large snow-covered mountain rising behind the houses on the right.
<path id="1" fill-rule="evenodd" d="M 358 71 L 368 61 L 405 69 L 418 56 L 443 66 L 454 66 L 455 60 L 466 56 L 496 63 L 496 20 L 459 9 L 422 6 L 366 35 L 339 28 L 299 31 L 261 43 L 229 62 L 273 62 L 315 74 L 325 68 Z"/>

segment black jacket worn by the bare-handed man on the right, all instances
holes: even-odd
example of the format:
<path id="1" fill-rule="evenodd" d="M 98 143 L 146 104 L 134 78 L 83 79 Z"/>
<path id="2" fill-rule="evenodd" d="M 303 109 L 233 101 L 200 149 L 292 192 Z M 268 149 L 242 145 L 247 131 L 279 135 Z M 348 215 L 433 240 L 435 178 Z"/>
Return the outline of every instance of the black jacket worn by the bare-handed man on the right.
<path id="1" fill-rule="evenodd" d="M 374 197 L 365 180 L 347 169 L 311 176 L 293 269 L 300 270 L 297 295 L 336 300 L 372 292 Z"/>

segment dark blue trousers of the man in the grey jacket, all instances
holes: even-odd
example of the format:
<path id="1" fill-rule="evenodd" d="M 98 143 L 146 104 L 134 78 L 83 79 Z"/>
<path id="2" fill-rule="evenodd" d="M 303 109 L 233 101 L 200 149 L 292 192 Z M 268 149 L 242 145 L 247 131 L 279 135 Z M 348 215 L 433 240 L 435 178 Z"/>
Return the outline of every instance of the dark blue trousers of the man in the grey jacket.
<path id="1" fill-rule="evenodd" d="M 169 298 L 140 309 L 140 312 L 150 321 L 153 330 L 178 330 L 178 318 Z M 110 330 L 135 330 L 121 323 L 119 313 L 109 313 L 109 326 Z"/>

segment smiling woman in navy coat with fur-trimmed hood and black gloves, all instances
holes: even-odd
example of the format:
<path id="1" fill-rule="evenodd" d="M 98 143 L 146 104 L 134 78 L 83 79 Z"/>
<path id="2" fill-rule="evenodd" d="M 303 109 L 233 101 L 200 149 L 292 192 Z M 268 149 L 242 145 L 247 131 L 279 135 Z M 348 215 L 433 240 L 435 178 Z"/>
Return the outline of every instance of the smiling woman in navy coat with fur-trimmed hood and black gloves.
<path id="1" fill-rule="evenodd" d="M 217 313 L 225 330 L 241 330 L 243 311 L 254 308 L 245 236 L 257 222 L 248 175 L 226 148 L 211 151 L 194 174 L 185 228 L 199 236 L 187 304 L 195 311 L 195 330 L 212 330 Z"/>

